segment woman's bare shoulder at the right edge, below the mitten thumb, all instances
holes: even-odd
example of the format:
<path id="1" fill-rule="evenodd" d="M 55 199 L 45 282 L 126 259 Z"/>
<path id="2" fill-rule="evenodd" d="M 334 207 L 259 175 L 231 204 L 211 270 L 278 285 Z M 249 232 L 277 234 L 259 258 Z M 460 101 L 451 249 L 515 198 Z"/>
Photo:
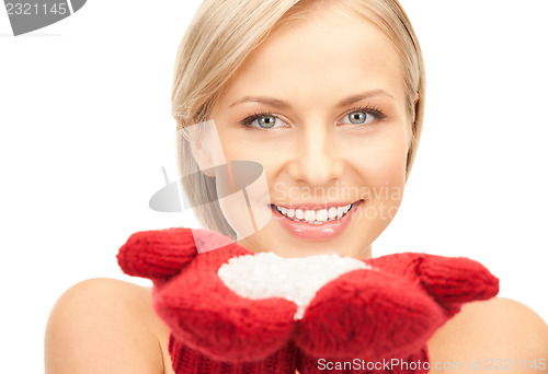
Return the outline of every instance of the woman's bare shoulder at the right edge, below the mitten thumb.
<path id="1" fill-rule="evenodd" d="M 432 337 L 429 352 L 430 373 L 548 373 L 548 326 L 510 299 L 469 303 Z"/>

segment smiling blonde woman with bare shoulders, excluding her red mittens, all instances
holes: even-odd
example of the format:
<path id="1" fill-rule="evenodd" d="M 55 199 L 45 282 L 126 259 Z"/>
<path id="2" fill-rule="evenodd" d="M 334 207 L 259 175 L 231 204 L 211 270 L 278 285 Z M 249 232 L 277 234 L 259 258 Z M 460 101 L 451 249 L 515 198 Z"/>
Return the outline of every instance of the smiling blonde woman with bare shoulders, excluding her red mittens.
<path id="1" fill-rule="evenodd" d="M 205 1 L 182 42 L 172 95 L 178 129 L 215 125 L 182 131 L 198 220 L 256 252 L 372 257 L 401 202 L 424 100 L 419 43 L 396 1 Z M 267 200 L 259 191 L 244 203 L 201 206 L 219 187 L 212 167 L 230 160 L 263 166 Z M 242 223 L 258 217 L 269 219 Z M 46 372 L 172 373 L 168 337 L 149 289 L 82 282 L 52 312 Z M 528 370 L 543 372 L 547 347 L 546 324 L 524 305 L 472 303 L 429 341 L 431 372 L 467 372 L 450 363 L 478 359 L 470 372 L 492 372 L 494 360 L 536 360 Z"/>

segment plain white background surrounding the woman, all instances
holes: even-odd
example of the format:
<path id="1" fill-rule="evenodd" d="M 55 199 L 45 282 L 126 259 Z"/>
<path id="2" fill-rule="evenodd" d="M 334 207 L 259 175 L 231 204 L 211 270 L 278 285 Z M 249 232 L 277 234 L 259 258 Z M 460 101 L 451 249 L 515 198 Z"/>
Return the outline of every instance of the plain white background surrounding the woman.
<path id="1" fill-rule="evenodd" d="M 175 178 L 171 78 L 198 1 L 89 1 L 10 36 L 0 14 L 0 372 L 43 372 L 70 285 L 124 276 L 139 230 L 194 225 L 148 199 Z M 424 133 L 375 255 L 467 256 L 548 319 L 548 23 L 544 0 L 404 0 L 427 72 Z M 504 326 L 501 326 L 501 329 Z M 494 332 L 494 331 L 493 331 Z"/>

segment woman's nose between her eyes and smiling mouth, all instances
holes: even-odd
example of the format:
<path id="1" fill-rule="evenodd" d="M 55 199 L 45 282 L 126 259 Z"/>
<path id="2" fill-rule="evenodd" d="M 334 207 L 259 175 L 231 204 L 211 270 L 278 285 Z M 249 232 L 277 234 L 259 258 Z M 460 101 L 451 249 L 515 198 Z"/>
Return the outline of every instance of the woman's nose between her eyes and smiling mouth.
<path id="1" fill-rule="evenodd" d="M 339 155 L 336 137 L 327 127 L 308 126 L 296 139 L 287 174 L 295 182 L 326 186 L 341 178 L 344 162 Z"/>

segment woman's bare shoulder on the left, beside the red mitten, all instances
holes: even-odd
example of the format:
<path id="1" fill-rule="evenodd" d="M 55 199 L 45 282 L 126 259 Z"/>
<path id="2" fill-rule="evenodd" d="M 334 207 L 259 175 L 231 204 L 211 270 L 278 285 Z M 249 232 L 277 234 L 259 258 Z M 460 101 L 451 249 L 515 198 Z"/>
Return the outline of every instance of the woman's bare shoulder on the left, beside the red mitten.
<path id="1" fill-rule="evenodd" d="M 150 289 L 115 279 L 71 287 L 47 322 L 46 374 L 171 373 L 169 332 L 150 297 Z"/>

